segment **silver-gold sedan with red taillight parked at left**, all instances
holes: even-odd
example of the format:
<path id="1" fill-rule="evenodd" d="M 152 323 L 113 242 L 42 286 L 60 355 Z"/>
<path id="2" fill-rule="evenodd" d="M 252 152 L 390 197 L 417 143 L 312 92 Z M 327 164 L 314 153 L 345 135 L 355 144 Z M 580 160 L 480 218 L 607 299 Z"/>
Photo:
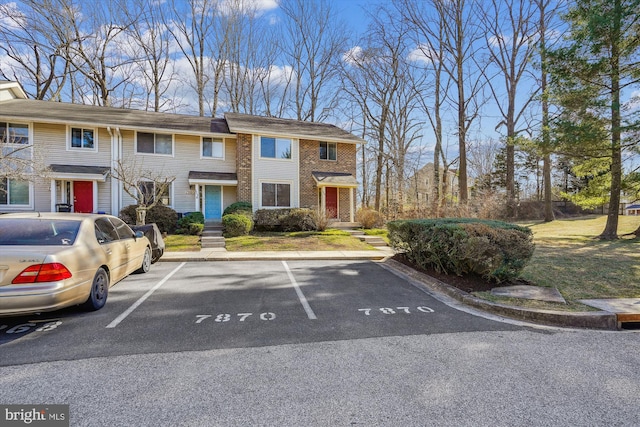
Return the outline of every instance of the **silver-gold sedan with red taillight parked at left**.
<path id="1" fill-rule="evenodd" d="M 111 215 L 0 215 L 0 315 L 101 309 L 109 288 L 151 268 L 151 244 Z"/>

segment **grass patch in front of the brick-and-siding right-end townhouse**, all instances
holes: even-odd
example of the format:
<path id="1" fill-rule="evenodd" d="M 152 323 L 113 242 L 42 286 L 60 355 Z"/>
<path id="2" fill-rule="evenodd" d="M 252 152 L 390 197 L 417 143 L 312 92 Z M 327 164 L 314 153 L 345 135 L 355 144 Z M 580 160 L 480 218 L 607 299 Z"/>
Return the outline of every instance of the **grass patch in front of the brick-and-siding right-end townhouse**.
<path id="1" fill-rule="evenodd" d="M 366 251 L 372 246 L 346 231 L 326 230 L 295 233 L 253 232 L 225 240 L 228 251 Z"/>

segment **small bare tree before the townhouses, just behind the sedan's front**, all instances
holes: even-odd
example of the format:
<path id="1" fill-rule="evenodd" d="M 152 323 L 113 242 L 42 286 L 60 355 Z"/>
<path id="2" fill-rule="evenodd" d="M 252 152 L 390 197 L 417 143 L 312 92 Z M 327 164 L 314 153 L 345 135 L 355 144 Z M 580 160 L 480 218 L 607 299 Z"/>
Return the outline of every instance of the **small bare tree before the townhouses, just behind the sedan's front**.
<path id="1" fill-rule="evenodd" d="M 131 196 L 136 208 L 136 224 L 143 225 L 147 211 L 160 203 L 168 191 L 175 175 L 167 175 L 163 168 L 145 168 L 136 160 L 118 160 L 111 171 L 113 177 L 122 183 L 122 189 Z"/>

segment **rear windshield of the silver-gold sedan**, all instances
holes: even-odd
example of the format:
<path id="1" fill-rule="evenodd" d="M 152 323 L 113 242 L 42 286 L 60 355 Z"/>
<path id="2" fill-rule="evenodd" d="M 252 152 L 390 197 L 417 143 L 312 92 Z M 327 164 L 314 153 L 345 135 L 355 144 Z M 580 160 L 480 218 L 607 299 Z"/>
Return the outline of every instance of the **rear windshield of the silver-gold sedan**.
<path id="1" fill-rule="evenodd" d="M 70 246 L 80 221 L 43 218 L 0 219 L 0 246 Z"/>

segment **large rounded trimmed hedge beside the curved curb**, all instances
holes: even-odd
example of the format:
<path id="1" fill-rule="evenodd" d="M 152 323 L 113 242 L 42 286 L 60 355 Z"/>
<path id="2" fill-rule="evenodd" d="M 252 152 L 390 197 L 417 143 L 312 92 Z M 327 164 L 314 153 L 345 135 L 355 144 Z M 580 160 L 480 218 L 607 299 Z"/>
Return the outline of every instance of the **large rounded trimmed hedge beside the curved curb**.
<path id="1" fill-rule="evenodd" d="M 501 221 L 403 220 L 387 229 L 391 246 L 418 267 L 496 282 L 518 277 L 534 250 L 530 229 Z"/>

